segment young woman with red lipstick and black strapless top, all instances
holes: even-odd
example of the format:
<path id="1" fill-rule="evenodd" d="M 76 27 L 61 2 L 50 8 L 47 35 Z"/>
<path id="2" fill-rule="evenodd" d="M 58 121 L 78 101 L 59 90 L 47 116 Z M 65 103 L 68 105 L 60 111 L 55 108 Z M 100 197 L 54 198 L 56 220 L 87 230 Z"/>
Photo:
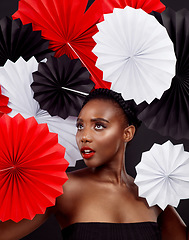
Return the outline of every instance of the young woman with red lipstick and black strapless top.
<path id="1" fill-rule="evenodd" d="M 186 226 L 176 211 L 150 208 L 126 173 L 125 148 L 138 125 L 131 101 L 107 89 L 91 93 L 78 116 L 76 135 L 87 168 L 68 174 L 64 194 L 44 215 L 0 223 L 0 240 L 20 239 L 51 213 L 64 240 L 186 240 Z"/>

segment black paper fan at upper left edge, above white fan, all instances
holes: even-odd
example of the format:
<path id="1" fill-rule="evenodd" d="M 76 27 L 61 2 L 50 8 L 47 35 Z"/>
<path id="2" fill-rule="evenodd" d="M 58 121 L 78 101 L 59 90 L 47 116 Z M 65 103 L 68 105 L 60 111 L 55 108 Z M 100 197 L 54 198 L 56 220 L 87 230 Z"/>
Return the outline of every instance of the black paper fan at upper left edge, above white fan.
<path id="1" fill-rule="evenodd" d="M 32 24 L 23 25 L 20 19 L 4 17 L 0 20 L 0 66 L 7 59 L 26 61 L 32 56 L 41 61 L 54 53 L 48 49 L 49 41 L 41 38 L 41 31 L 33 31 Z"/>

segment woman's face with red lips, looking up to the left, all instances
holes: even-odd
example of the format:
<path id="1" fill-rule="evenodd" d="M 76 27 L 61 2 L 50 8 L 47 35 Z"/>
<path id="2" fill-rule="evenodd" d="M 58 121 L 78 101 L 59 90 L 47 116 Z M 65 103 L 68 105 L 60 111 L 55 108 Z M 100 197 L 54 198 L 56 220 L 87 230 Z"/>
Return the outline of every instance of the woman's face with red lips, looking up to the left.
<path id="1" fill-rule="evenodd" d="M 122 157 L 125 124 L 122 109 L 109 100 L 90 100 L 77 120 L 76 141 L 88 167 L 98 167 Z"/>

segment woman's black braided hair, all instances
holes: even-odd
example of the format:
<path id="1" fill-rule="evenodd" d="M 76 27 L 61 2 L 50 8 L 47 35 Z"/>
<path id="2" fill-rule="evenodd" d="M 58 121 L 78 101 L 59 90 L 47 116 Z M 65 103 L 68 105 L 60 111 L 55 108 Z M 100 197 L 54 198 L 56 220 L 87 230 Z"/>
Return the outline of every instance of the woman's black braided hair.
<path id="1" fill-rule="evenodd" d="M 83 107 L 92 99 L 112 100 L 122 108 L 129 125 L 134 125 L 137 129 L 141 125 L 141 121 L 137 118 L 136 103 L 134 100 L 124 100 L 121 93 L 106 88 L 99 88 L 92 91 L 83 103 Z"/>

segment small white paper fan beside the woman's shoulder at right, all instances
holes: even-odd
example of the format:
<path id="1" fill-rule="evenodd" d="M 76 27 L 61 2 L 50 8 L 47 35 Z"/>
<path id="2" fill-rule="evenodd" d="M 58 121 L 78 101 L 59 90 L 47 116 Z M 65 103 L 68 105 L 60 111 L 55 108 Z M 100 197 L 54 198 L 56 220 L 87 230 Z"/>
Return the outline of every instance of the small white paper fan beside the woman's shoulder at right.
<path id="1" fill-rule="evenodd" d="M 154 144 L 142 153 L 136 171 L 139 196 L 146 198 L 149 206 L 157 204 L 164 210 L 167 205 L 177 207 L 180 199 L 189 198 L 189 153 L 182 144 Z"/>

